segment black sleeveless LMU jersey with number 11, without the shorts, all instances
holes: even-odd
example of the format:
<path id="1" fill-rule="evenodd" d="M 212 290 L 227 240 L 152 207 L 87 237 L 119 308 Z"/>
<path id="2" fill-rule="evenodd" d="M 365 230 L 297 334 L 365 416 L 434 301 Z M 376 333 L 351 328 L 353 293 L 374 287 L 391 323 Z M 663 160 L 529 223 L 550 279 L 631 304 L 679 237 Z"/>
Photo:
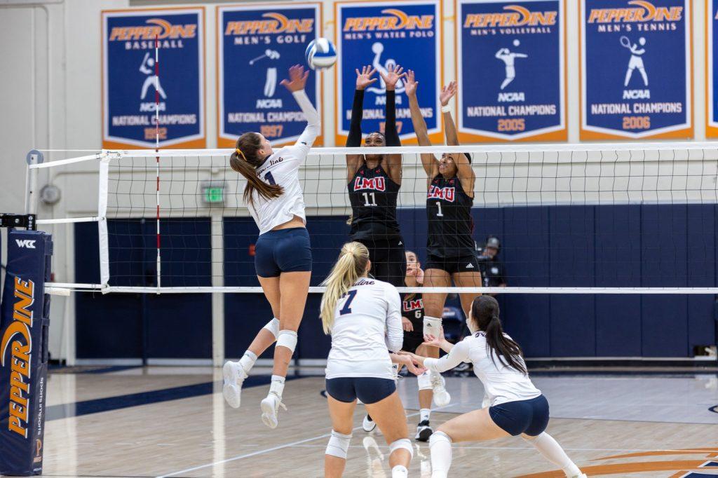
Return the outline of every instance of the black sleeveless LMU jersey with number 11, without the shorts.
<path id="1" fill-rule="evenodd" d="M 383 167 L 360 167 L 348 184 L 352 205 L 350 237 L 360 239 L 391 239 L 399 237 L 396 221 L 396 197 L 399 185 Z"/>

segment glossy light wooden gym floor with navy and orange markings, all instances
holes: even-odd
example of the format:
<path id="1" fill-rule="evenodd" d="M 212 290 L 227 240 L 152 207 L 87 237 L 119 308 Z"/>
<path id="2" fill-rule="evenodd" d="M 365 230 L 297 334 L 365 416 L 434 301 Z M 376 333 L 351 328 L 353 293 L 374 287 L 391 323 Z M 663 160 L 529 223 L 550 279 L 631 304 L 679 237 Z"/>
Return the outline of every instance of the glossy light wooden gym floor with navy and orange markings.
<path id="1" fill-rule="evenodd" d="M 255 372 L 257 373 L 257 372 Z M 551 404 L 549 433 L 589 476 L 718 477 L 718 376 L 622 373 L 533 375 Z M 52 372 L 44 476 L 320 477 L 330 432 L 323 378 L 286 384 L 279 427 L 261 423 L 269 377 L 253 375 L 242 407 L 225 406 L 221 372 L 199 367 Z M 438 426 L 477 408 L 473 375 L 447 378 L 452 404 Z M 399 383 L 410 432 L 416 380 Z M 345 477 L 389 477 L 381 434 L 355 428 Z M 413 434 L 412 434 L 413 438 Z M 429 447 L 416 443 L 410 477 L 430 477 Z M 521 439 L 454 445 L 454 477 L 561 477 Z"/>

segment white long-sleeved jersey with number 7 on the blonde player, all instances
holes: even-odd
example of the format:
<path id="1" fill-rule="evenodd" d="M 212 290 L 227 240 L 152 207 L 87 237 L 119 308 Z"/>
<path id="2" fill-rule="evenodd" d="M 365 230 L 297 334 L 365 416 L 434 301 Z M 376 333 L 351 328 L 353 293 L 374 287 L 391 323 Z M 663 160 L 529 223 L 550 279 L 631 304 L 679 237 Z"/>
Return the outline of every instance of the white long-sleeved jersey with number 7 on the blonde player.
<path id="1" fill-rule="evenodd" d="M 393 380 L 389 350 L 404 342 L 401 299 L 396 287 L 360 278 L 337 301 L 327 378 L 374 377 Z"/>

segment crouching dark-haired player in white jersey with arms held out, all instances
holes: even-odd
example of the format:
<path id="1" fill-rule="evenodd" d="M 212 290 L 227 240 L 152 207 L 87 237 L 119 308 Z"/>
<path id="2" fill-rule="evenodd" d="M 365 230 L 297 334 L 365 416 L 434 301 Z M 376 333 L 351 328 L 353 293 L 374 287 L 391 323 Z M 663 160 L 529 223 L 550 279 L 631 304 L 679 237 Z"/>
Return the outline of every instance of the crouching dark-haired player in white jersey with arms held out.
<path id="1" fill-rule="evenodd" d="M 414 362 L 429 370 L 444 372 L 461 362 L 472 362 L 474 373 L 484 385 L 491 406 L 452 418 L 429 439 L 432 478 L 444 478 L 451 467 L 452 441 L 480 441 L 521 435 L 567 477 L 586 475 L 574 464 L 556 440 L 547 434 L 549 402 L 528 378 L 521 347 L 503 333 L 496 299 L 480 296 L 471 304 L 467 324 L 472 335 L 457 345 L 439 337 L 426 336 L 426 344 L 440 347 L 448 355 L 440 359 L 412 355 Z"/>

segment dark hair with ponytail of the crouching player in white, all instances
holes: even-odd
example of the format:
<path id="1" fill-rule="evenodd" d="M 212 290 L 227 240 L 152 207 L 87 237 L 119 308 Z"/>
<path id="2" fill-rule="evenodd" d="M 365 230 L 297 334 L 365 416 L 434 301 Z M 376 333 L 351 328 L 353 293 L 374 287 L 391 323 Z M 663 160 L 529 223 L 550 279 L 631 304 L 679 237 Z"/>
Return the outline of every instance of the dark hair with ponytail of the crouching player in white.
<path id="1" fill-rule="evenodd" d="M 492 362 L 495 353 L 499 362 L 526 374 L 528 371 L 521 356 L 521 347 L 503 334 L 498 314 L 498 301 L 491 296 L 478 296 L 471 304 L 471 317 L 474 324 L 486 334 L 486 346 Z"/>

